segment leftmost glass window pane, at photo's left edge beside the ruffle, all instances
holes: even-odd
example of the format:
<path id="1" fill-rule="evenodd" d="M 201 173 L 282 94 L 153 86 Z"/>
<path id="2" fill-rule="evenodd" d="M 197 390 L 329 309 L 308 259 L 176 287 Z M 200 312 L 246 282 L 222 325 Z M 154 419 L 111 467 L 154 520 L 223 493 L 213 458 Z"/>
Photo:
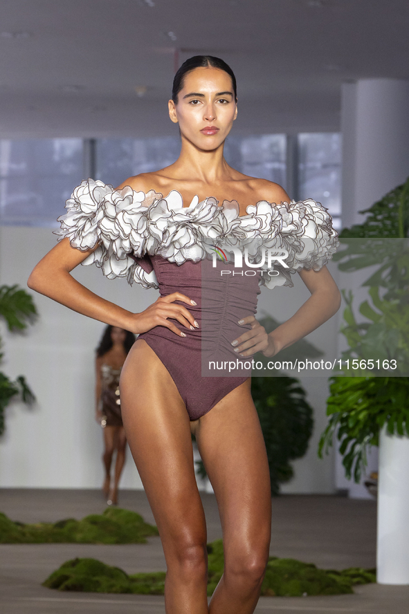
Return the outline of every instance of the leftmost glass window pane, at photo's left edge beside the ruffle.
<path id="1" fill-rule="evenodd" d="M 82 139 L 0 140 L 0 223 L 57 226 L 82 180 Z"/>

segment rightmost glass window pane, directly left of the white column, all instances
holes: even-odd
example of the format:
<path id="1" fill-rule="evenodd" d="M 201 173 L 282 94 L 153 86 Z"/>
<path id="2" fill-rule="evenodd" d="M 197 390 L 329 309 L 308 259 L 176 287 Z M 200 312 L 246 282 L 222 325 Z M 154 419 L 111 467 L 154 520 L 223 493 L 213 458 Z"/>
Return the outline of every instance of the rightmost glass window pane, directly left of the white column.
<path id="1" fill-rule="evenodd" d="M 334 218 L 340 228 L 341 135 L 303 133 L 298 135 L 298 198 L 313 198 Z"/>

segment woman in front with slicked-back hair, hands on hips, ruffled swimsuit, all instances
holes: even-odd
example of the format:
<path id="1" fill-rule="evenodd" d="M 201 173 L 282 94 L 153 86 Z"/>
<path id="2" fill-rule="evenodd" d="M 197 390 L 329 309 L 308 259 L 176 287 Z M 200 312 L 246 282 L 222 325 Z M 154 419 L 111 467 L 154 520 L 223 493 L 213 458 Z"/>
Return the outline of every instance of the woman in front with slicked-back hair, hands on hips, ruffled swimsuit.
<path id="1" fill-rule="evenodd" d="M 250 614 L 269 556 L 266 449 L 250 373 L 203 377 L 201 353 L 221 351 L 237 364 L 257 351 L 272 357 L 334 315 L 340 293 L 325 263 L 336 250 L 336 232 L 315 201 L 290 201 L 279 185 L 227 164 L 224 142 L 237 116 L 237 91 L 221 59 L 188 59 L 174 77 L 168 108 L 181 133 L 178 160 L 117 189 L 83 181 L 60 218 L 62 241 L 28 283 L 84 315 L 140 333 L 122 369 L 122 418 L 161 534 L 167 614 Z M 239 275 L 220 272 L 217 250 L 226 258 L 243 245 L 246 267 Z M 266 249 L 276 250 L 278 266 L 265 268 L 263 260 L 255 271 Z M 140 313 L 102 299 L 70 275 L 92 262 L 109 278 L 159 288 L 161 296 Z M 267 334 L 254 317 L 259 286 L 291 286 L 294 272 L 311 296 Z M 191 429 L 224 537 L 224 575 L 209 606 Z"/>

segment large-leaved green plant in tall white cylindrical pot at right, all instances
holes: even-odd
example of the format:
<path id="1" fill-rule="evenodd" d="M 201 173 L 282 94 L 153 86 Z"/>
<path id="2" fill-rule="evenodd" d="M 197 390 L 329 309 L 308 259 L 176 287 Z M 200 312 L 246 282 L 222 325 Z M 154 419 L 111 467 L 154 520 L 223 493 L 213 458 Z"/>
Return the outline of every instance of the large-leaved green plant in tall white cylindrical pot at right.
<path id="1" fill-rule="evenodd" d="M 350 241 L 336 254 L 338 266 L 378 268 L 363 284 L 370 295 L 359 308 L 366 322 L 357 322 L 352 294 L 344 294 L 349 349 L 343 358 L 356 360 L 359 370 L 331 378 L 329 424 L 318 454 L 336 436 L 347 477 L 359 481 L 367 447 L 379 445 L 378 582 L 409 584 L 409 178 L 362 213 L 365 222 L 340 238 L 367 240 Z M 368 365 L 375 356 L 380 362 Z M 391 376 L 390 361 L 400 377 Z"/>

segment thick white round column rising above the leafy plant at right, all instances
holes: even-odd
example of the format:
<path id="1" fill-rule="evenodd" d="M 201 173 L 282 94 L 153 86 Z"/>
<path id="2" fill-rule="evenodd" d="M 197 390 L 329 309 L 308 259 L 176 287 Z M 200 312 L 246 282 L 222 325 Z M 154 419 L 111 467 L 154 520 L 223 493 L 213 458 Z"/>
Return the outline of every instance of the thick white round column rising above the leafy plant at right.
<path id="1" fill-rule="evenodd" d="M 409 81 L 343 84 L 343 226 L 409 176 Z"/>

